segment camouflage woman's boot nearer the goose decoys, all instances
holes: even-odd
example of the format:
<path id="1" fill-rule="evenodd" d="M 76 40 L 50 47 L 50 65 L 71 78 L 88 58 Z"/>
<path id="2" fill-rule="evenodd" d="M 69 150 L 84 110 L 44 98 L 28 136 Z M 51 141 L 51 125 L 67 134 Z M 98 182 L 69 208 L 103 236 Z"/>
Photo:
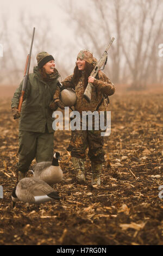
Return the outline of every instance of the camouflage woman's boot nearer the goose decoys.
<path id="1" fill-rule="evenodd" d="M 71 161 L 73 163 L 73 167 L 76 173 L 76 180 L 82 184 L 85 182 L 85 174 L 84 174 L 84 159 L 79 159 L 77 157 L 71 157 Z"/>

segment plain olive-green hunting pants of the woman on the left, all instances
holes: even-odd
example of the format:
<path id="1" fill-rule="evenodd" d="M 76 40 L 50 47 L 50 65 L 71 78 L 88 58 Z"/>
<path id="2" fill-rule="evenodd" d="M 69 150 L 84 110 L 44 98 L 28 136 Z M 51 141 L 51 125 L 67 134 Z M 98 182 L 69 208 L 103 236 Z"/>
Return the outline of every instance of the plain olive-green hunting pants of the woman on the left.
<path id="1" fill-rule="evenodd" d="M 54 133 L 19 131 L 19 150 L 17 167 L 20 172 L 27 172 L 30 164 L 52 161 Z"/>

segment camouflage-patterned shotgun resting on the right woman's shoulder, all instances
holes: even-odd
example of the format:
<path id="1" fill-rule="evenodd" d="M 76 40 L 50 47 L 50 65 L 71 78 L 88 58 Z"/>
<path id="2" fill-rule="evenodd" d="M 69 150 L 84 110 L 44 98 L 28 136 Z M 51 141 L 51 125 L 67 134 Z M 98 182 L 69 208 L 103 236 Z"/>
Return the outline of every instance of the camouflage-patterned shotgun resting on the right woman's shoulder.
<path id="1" fill-rule="evenodd" d="M 98 71 L 101 70 L 102 66 L 106 65 L 106 62 L 107 62 L 107 59 L 108 59 L 108 50 L 109 50 L 110 46 L 112 45 L 112 42 L 114 41 L 114 39 L 115 38 L 111 39 L 110 44 L 108 45 L 108 47 L 104 51 L 101 59 L 99 59 L 99 61 L 96 64 L 95 68 L 92 70 L 90 76 L 96 77 L 96 75 L 98 74 Z M 104 67 L 103 67 L 103 69 L 104 69 Z M 92 83 L 88 83 L 87 87 L 85 89 L 84 98 L 87 100 L 87 102 L 91 102 L 92 87 L 93 87 L 93 84 Z"/>

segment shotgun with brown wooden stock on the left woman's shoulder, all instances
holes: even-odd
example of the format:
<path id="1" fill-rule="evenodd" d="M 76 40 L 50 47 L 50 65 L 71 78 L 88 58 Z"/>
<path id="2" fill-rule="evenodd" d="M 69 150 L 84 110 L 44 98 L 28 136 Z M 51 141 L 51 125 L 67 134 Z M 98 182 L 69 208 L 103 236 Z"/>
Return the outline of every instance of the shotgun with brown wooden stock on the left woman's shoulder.
<path id="1" fill-rule="evenodd" d="M 23 97 L 24 97 L 24 93 L 26 92 L 26 87 L 27 87 L 27 80 L 28 80 L 28 74 L 29 74 L 29 66 L 30 66 L 30 59 L 31 59 L 31 54 L 32 54 L 34 34 L 35 34 L 35 28 L 33 28 L 32 42 L 31 42 L 31 45 L 30 45 L 29 54 L 27 55 L 26 66 L 25 66 L 25 69 L 24 69 L 22 92 L 21 92 L 21 97 L 20 97 L 19 103 L 18 103 L 18 111 L 19 112 L 21 112 Z"/>

